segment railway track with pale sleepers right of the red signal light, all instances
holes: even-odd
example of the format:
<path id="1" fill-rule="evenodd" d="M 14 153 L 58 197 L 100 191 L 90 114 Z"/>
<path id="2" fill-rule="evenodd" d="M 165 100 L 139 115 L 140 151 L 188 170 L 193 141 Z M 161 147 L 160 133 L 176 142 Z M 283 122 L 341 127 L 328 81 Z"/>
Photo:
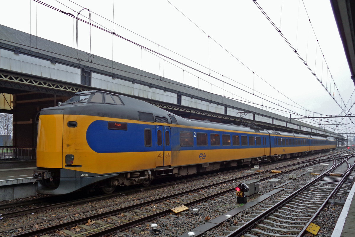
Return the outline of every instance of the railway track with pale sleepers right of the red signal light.
<path id="1" fill-rule="evenodd" d="M 327 201 L 353 175 L 355 158 L 330 168 L 320 177 L 290 193 L 253 219 L 245 222 L 227 237 L 279 236 L 300 237 L 306 230 L 316 231 L 312 221 Z M 350 163 L 353 165 L 350 166 Z M 340 176 L 338 176 L 340 174 Z M 345 184 L 347 185 L 347 184 Z M 317 232 L 313 233 L 316 234 Z"/>

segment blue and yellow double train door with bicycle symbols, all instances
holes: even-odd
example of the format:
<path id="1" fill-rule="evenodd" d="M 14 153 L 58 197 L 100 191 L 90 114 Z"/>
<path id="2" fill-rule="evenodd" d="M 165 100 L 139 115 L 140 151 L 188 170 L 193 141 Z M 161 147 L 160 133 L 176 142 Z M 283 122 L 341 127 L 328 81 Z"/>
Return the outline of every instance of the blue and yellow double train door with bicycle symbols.
<path id="1" fill-rule="evenodd" d="M 155 166 L 170 166 L 171 165 L 171 144 L 170 144 L 170 127 L 155 126 L 157 142 Z"/>

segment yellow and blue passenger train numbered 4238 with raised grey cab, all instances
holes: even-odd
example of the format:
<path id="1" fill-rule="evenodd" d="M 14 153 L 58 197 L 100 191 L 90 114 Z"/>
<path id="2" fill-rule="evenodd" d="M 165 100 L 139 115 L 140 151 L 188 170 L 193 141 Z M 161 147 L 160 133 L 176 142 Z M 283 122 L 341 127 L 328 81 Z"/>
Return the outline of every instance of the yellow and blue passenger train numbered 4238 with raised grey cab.
<path id="1" fill-rule="evenodd" d="M 33 176 L 38 193 L 111 193 L 154 178 L 329 149 L 335 149 L 333 138 L 189 120 L 138 99 L 86 91 L 41 110 Z"/>

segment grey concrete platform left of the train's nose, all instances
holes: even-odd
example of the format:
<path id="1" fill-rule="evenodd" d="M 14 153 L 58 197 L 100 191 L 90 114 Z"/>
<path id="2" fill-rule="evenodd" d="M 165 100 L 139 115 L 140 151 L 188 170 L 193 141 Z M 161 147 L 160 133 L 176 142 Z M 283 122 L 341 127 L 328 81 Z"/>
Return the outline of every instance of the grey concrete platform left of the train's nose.
<path id="1" fill-rule="evenodd" d="M 37 195 L 33 185 L 36 160 L 0 161 L 0 201 Z"/>

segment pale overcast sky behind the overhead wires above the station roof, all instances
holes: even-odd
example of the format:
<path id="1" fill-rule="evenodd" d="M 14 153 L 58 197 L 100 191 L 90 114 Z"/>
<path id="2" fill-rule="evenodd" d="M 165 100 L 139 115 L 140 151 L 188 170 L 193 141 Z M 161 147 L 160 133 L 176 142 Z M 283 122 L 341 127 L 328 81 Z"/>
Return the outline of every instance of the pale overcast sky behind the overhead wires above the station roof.
<path id="1" fill-rule="evenodd" d="M 42 1 L 75 16 L 87 8 L 94 24 L 207 75 L 92 27 L 94 55 L 256 103 L 286 117 L 290 113 L 299 117 L 294 112 L 305 116 L 344 115 L 331 95 L 343 108 L 354 103 L 354 84 L 328 0 L 257 0 L 328 91 L 253 0 Z M 2 1 L 1 9 L 0 24 L 76 48 L 74 18 L 33 0 Z M 83 10 L 79 17 L 87 20 L 89 12 Z M 89 46 L 89 26 L 79 22 L 78 48 L 88 52 Z"/>

